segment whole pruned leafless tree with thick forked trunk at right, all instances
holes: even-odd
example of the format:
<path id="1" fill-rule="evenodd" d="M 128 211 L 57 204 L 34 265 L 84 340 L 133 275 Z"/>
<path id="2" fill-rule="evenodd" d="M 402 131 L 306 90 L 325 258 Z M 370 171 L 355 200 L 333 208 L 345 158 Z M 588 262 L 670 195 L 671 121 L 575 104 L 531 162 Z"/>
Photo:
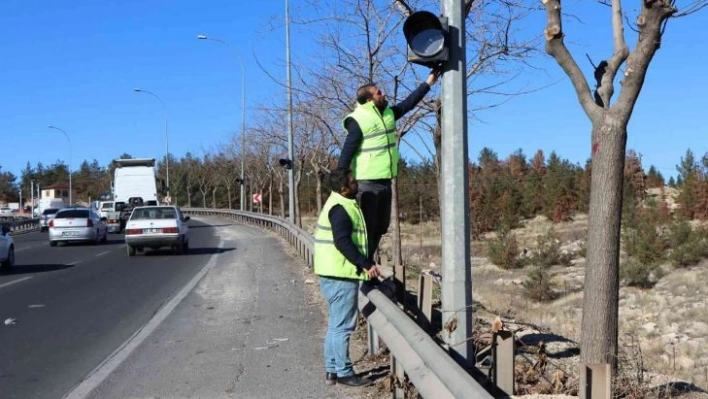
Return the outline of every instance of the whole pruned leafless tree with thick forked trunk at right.
<path id="1" fill-rule="evenodd" d="M 583 299 L 580 360 L 588 364 L 609 363 L 617 367 L 619 250 L 622 189 L 627 125 L 644 84 L 647 69 L 661 45 L 671 17 L 685 15 L 705 6 L 693 1 L 683 13 L 674 0 L 644 0 L 636 18 L 638 32 L 634 50 L 625 42 L 624 16 L 620 0 L 606 0 L 611 6 L 613 53 L 595 66 L 594 95 L 578 64 L 563 42 L 560 0 L 542 0 L 546 9 L 546 52 L 568 75 L 578 101 L 592 123 L 592 177 L 588 215 L 587 265 Z M 621 74 L 621 91 L 610 105 L 615 78 Z"/>

